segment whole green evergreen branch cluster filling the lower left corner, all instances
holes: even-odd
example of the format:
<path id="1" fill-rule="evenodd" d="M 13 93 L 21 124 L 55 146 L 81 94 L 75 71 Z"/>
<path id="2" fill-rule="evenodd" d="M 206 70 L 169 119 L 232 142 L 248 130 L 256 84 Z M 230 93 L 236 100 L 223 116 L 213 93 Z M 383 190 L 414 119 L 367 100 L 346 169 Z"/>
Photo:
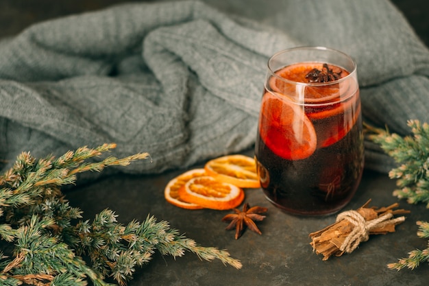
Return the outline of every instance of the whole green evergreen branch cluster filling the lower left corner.
<path id="1" fill-rule="evenodd" d="M 0 176 L 0 243 L 5 245 L 5 254 L 0 252 L 0 285 L 84 286 L 89 281 L 95 286 L 110 285 L 104 277 L 126 285 L 135 268 L 149 263 L 156 251 L 173 257 L 190 251 L 200 259 L 219 259 L 241 267 L 225 250 L 199 246 L 168 222 L 156 222 L 149 215 L 142 223 L 134 220 L 123 225 L 113 211 L 106 209 L 92 222 L 73 225 L 72 221 L 82 218 L 82 211 L 69 205 L 60 187 L 73 184 L 76 174 L 83 171 L 126 166 L 149 157 L 141 153 L 86 162 L 114 147 L 82 147 L 59 158 L 39 160 L 23 152 Z M 90 265 L 82 257 L 87 257 Z"/>

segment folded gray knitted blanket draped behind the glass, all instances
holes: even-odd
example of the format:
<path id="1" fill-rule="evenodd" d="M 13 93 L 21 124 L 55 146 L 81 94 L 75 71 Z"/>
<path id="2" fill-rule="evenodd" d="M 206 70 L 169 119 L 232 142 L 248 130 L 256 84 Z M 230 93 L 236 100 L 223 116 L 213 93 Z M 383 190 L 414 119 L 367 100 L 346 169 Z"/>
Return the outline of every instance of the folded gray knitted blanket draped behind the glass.
<path id="1" fill-rule="evenodd" d="M 356 60 L 365 121 L 429 121 L 429 51 L 389 1 L 206 2 L 119 5 L 0 41 L 0 159 L 114 142 L 152 158 L 121 171 L 153 174 L 240 152 L 269 56 L 299 45 Z M 366 166 L 392 165 L 367 143 Z"/>

